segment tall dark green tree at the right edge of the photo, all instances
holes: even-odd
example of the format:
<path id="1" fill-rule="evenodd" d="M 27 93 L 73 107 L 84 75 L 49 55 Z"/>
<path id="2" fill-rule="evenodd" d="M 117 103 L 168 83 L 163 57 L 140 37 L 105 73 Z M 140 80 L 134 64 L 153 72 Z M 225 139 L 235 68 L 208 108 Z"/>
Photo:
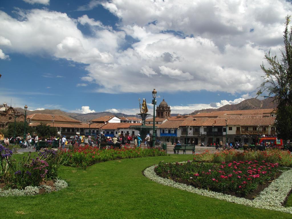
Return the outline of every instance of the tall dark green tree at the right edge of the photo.
<path id="1" fill-rule="evenodd" d="M 267 92 L 264 97 L 273 97 L 277 102 L 277 119 L 275 126 L 278 137 L 284 140 L 292 139 L 292 27 L 289 27 L 291 16 L 286 16 L 284 23 L 284 46 L 281 60 L 270 51 L 265 52 L 264 59 L 270 65 L 260 67 L 265 72 L 264 82 L 260 85 L 257 95 Z"/>

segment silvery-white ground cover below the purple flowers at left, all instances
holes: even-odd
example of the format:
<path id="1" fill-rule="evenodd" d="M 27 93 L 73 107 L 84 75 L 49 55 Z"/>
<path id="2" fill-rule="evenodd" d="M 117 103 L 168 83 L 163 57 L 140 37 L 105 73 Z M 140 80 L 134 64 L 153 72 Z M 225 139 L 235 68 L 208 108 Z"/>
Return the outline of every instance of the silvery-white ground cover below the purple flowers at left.
<path id="1" fill-rule="evenodd" d="M 48 185 L 40 185 L 40 186 L 27 186 L 25 189 L 9 189 L 2 190 L 0 189 L 0 196 L 28 196 L 28 195 L 36 195 L 39 194 L 40 189 L 44 189 L 46 192 L 59 191 L 68 186 L 68 184 L 64 180 L 57 179 L 54 183 L 54 187 Z"/>

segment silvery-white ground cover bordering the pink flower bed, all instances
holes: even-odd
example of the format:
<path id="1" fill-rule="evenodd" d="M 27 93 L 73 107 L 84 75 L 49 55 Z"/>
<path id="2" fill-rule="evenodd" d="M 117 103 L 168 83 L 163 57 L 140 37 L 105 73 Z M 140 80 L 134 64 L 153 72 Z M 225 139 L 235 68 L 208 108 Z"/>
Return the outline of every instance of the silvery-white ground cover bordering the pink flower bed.
<path id="1" fill-rule="evenodd" d="M 243 204 L 254 208 L 265 208 L 274 211 L 282 211 L 292 214 L 292 207 L 284 207 L 282 203 L 286 199 L 288 193 L 292 189 L 292 169 L 284 171 L 281 176 L 274 180 L 269 187 L 265 188 L 260 194 L 253 200 L 239 198 L 232 195 L 222 194 L 219 192 L 208 191 L 204 189 L 198 189 L 190 185 L 174 182 L 170 179 L 165 179 L 158 176 L 154 172 L 154 166 L 150 166 L 144 171 L 144 175 L 153 180 L 154 182 L 162 185 L 171 186 L 188 192 L 193 192 L 199 195 L 207 197 L 234 202 L 237 204 Z"/>

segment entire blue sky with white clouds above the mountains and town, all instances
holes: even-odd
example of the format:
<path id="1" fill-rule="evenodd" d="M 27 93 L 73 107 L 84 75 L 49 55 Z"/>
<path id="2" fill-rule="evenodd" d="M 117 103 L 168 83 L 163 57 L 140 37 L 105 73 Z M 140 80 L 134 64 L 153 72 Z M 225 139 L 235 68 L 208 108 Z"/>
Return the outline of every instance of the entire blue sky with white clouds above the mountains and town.
<path id="1" fill-rule="evenodd" d="M 172 113 L 236 104 L 255 97 L 264 51 L 278 53 L 291 9 L 281 0 L 2 0 L 0 101 L 135 114 L 138 98 L 151 109 L 156 88 Z"/>

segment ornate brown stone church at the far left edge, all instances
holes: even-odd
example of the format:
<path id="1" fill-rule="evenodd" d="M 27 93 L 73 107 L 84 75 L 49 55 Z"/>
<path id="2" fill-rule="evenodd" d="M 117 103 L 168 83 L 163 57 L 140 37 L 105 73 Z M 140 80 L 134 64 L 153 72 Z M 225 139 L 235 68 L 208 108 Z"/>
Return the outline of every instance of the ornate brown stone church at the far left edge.
<path id="1" fill-rule="evenodd" d="M 16 118 L 15 118 L 16 117 Z M 8 107 L 6 103 L 0 106 L 0 129 L 8 127 L 11 122 L 23 122 L 24 114 L 20 114 L 13 107 Z"/>

